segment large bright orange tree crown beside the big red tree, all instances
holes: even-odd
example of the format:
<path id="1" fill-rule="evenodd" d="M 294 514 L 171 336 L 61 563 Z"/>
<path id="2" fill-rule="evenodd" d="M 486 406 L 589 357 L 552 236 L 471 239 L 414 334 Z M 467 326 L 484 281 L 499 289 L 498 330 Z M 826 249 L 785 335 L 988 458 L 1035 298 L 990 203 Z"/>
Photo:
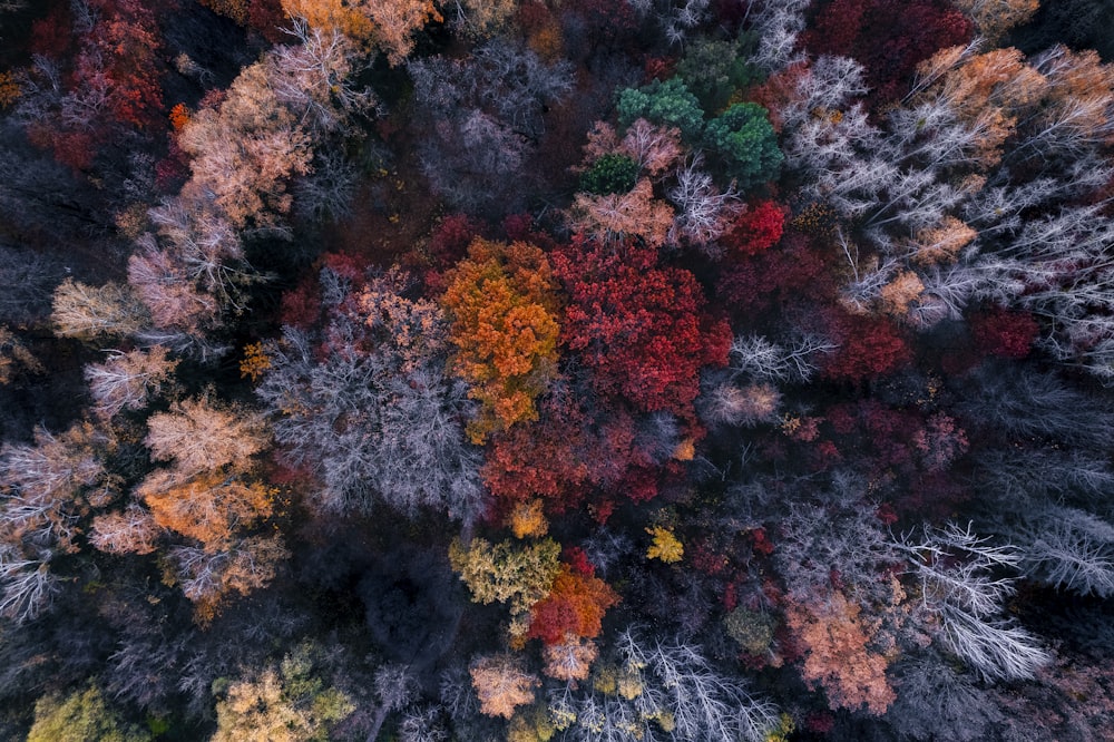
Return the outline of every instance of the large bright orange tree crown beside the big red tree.
<path id="1" fill-rule="evenodd" d="M 452 368 L 480 402 L 468 436 L 482 443 L 492 431 L 538 417 L 534 400 L 557 361 L 555 284 L 537 247 L 479 238 L 448 280 L 441 302 L 452 319 Z"/>

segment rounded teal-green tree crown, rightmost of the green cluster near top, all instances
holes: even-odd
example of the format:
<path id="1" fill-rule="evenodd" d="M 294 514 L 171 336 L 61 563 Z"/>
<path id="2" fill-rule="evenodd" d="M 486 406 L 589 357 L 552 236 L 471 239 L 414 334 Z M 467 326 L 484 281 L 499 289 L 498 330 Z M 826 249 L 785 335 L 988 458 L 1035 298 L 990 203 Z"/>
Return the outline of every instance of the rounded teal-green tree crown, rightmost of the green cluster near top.
<path id="1" fill-rule="evenodd" d="M 752 102 L 735 104 L 712 119 L 704 130 L 707 146 L 740 188 L 778 177 L 784 157 L 768 111 Z"/>

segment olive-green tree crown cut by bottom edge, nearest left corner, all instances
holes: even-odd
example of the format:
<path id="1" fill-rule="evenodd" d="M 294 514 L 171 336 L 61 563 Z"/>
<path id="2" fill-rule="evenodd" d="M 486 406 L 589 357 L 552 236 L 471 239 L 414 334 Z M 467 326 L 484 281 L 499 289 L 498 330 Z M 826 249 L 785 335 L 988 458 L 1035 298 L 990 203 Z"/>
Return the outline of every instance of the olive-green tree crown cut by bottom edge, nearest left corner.
<path id="1" fill-rule="evenodd" d="M 105 703 L 100 689 L 89 685 L 66 697 L 47 696 L 35 704 L 35 724 L 27 742 L 147 742 L 143 728 L 129 724 Z"/>

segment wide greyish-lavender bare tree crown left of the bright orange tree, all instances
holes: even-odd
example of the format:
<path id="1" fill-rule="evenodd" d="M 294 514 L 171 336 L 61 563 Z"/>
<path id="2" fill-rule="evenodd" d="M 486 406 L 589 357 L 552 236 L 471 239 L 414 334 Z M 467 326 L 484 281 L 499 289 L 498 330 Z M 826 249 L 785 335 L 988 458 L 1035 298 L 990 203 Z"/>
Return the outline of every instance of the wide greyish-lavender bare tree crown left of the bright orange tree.
<path id="1" fill-rule="evenodd" d="M 256 393 L 282 416 L 275 438 L 289 447 L 289 460 L 322 478 L 319 507 L 367 510 L 374 494 L 408 514 L 432 507 L 466 521 L 479 517 L 483 495 L 479 457 L 462 430 L 463 384 L 433 365 L 402 374 L 351 348 L 319 364 L 304 338 L 289 332 L 286 341 L 271 351 Z"/>

